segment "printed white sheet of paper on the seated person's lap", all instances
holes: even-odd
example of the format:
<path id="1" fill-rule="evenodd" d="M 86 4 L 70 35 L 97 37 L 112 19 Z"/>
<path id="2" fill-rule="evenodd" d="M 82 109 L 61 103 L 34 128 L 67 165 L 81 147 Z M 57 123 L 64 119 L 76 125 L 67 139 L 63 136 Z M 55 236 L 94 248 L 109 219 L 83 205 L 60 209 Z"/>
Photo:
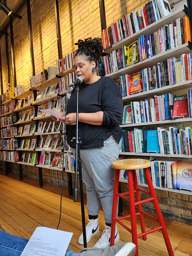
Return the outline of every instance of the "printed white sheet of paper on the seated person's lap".
<path id="1" fill-rule="evenodd" d="M 47 227 L 37 227 L 21 256 L 65 255 L 73 233 Z"/>

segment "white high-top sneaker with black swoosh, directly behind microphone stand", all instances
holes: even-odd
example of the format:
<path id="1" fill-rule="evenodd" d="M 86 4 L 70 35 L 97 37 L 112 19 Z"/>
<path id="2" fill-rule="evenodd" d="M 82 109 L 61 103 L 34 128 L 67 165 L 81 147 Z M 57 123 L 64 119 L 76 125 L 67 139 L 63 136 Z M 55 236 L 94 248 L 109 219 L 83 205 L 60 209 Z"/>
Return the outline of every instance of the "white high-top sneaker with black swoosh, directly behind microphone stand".
<path id="1" fill-rule="evenodd" d="M 88 219 L 88 224 L 85 227 L 85 230 L 86 230 L 86 239 L 88 243 L 91 240 L 92 236 L 99 231 L 98 218 L 96 220 Z M 80 235 L 78 239 L 78 243 L 83 244 L 83 233 Z"/>

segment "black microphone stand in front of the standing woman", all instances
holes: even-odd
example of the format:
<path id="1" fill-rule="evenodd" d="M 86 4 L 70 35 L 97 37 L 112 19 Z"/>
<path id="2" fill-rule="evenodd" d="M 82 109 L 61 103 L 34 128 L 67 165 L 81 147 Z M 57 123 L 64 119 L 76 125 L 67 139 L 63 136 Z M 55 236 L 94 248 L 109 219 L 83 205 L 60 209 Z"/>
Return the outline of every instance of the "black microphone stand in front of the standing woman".
<path id="1" fill-rule="evenodd" d="M 81 195 L 81 218 L 82 218 L 82 228 L 83 228 L 83 245 L 87 247 L 86 240 L 86 230 L 85 230 L 85 208 L 84 208 L 84 198 L 83 198 L 83 180 L 81 171 L 81 157 L 80 157 L 80 138 L 79 138 L 79 84 L 76 85 L 76 138 L 75 138 L 75 191 L 74 191 L 74 202 L 77 202 L 77 171 L 79 171 L 79 186 Z"/>

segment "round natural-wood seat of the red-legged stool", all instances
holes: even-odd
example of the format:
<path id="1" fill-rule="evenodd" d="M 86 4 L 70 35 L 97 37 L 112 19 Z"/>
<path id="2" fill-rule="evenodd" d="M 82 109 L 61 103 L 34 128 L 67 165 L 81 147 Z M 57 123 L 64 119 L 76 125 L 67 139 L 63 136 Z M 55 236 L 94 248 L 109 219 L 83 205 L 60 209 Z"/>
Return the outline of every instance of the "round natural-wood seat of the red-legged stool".
<path id="1" fill-rule="evenodd" d="M 141 158 L 120 159 L 112 162 L 111 167 L 119 170 L 144 169 L 151 166 L 151 162 Z"/>

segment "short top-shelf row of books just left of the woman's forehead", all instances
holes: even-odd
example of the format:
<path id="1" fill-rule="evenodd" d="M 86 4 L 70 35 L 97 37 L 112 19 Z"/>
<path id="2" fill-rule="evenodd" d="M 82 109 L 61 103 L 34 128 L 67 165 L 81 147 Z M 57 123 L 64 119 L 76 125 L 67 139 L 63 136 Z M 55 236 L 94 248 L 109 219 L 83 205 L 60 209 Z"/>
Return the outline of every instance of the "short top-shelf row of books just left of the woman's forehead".
<path id="1" fill-rule="evenodd" d="M 73 58 L 75 56 L 76 51 L 70 52 L 67 55 L 63 56 L 61 59 L 56 60 L 56 66 L 58 74 L 63 71 L 73 68 Z"/>

